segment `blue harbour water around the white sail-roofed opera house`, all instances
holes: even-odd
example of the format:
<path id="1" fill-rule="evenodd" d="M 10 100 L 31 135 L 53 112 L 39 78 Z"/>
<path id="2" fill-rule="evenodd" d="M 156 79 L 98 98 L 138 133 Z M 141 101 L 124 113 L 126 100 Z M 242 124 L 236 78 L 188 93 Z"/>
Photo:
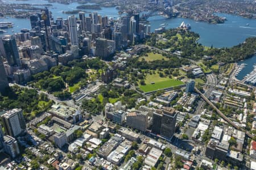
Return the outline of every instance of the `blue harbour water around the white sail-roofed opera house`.
<path id="1" fill-rule="evenodd" d="M 205 46 L 213 45 L 216 48 L 230 47 L 242 43 L 247 37 L 256 37 L 256 21 L 236 15 L 217 14 L 228 20 L 223 24 L 209 24 L 196 22 L 192 19 L 174 18 L 168 19 L 163 16 L 152 16 L 148 18 L 151 29 L 160 27 L 162 23 L 168 24 L 166 28 L 177 28 L 183 21 L 191 24 L 191 31 L 199 33 L 198 42 Z M 246 25 L 249 24 L 249 25 Z"/>

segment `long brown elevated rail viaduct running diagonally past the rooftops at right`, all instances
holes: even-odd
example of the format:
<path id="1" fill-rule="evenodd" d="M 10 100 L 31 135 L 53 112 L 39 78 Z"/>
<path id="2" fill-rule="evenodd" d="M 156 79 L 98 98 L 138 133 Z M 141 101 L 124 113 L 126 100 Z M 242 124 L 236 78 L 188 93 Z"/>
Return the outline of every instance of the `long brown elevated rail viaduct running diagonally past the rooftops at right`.
<path id="1" fill-rule="evenodd" d="M 253 138 L 254 135 L 250 134 L 248 131 L 246 131 L 245 129 L 240 128 L 239 126 L 237 126 L 236 124 L 234 124 L 234 122 L 232 120 L 230 120 L 228 117 L 226 117 L 210 100 L 208 100 L 208 98 L 202 94 L 196 87 L 195 87 L 195 91 L 205 100 L 205 102 L 207 102 L 210 107 L 212 107 L 218 114 L 220 114 L 220 116 L 226 121 L 228 122 L 230 125 L 232 125 L 234 128 L 244 131 L 245 134 L 250 137 Z"/>

